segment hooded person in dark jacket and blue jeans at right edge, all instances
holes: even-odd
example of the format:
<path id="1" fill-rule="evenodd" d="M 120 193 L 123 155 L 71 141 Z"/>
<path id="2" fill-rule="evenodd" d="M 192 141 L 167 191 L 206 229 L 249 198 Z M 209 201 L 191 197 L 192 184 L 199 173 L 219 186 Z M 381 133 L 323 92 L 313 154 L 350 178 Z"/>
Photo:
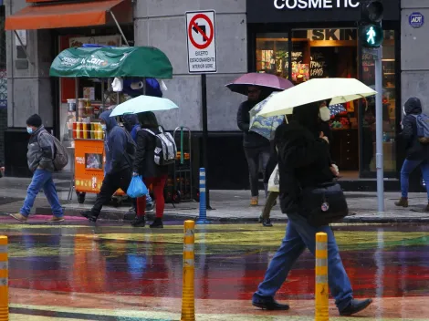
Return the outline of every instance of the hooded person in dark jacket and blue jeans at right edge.
<path id="1" fill-rule="evenodd" d="M 420 167 L 426 185 L 428 203 L 424 209 L 429 212 L 429 144 L 422 144 L 417 137 L 417 119 L 422 115 L 422 103 L 419 98 L 409 98 L 403 107 L 403 132 L 400 137 L 406 150 L 406 158 L 401 169 L 401 198 L 394 204 L 408 207 L 408 187 L 410 174 Z"/>

